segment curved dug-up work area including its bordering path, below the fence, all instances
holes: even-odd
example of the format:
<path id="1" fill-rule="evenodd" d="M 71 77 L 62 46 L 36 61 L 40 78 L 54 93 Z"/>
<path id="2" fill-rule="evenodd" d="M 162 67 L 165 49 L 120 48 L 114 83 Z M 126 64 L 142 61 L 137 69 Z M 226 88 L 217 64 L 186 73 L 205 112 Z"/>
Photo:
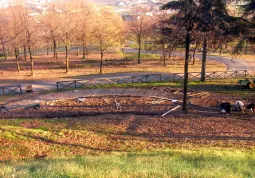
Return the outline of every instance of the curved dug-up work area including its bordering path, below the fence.
<path id="1" fill-rule="evenodd" d="M 2 105 L 0 117 L 59 118 L 121 113 L 164 117 L 170 113 L 171 115 L 182 113 L 182 97 L 182 89 L 169 87 L 63 91 L 9 101 Z M 221 102 L 235 103 L 238 100 L 243 98 L 190 91 L 188 93 L 189 115 L 254 119 L 254 114 L 250 111 L 231 113 L 231 116 L 220 113 Z M 244 103 L 251 102 L 254 102 L 252 96 L 245 98 Z"/>

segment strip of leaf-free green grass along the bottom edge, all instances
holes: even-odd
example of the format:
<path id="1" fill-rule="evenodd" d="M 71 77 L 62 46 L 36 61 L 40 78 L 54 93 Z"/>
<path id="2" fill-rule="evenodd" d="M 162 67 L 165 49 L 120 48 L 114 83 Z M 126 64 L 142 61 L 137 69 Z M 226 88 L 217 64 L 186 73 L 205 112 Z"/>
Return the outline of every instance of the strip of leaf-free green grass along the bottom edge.
<path id="1" fill-rule="evenodd" d="M 254 177 L 255 154 L 238 150 L 161 152 L 3 163 L 0 177 Z"/>

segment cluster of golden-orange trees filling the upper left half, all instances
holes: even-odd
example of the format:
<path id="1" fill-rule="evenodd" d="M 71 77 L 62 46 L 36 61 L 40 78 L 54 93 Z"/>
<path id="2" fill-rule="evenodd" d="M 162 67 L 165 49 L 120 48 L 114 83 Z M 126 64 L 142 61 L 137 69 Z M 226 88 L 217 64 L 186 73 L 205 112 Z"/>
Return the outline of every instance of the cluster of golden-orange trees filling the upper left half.
<path id="1" fill-rule="evenodd" d="M 123 21 L 113 9 L 96 8 L 84 1 L 48 4 L 47 12 L 33 16 L 31 9 L 17 3 L 0 13 L 0 43 L 5 59 L 7 48 L 16 57 L 17 70 L 19 53 L 27 52 L 33 75 L 33 48 L 45 47 L 47 54 L 53 48 L 54 58 L 58 58 L 57 47 L 65 48 L 66 72 L 69 71 L 69 52 L 71 46 L 82 46 L 83 58 L 89 44 L 96 44 L 101 53 L 100 73 L 104 52 L 120 44 L 123 38 Z M 27 51 L 28 50 L 28 51 Z"/>

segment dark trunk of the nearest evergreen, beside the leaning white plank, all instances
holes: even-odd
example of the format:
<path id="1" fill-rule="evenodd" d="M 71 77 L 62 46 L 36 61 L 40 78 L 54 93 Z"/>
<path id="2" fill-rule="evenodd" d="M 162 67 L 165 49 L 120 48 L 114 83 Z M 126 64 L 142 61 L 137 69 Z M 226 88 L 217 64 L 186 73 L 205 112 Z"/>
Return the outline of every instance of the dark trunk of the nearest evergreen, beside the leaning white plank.
<path id="1" fill-rule="evenodd" d="M 182 111 L 187 113 L 187 92 L 189 77 L 189 48 L 190 48 L 190 32 L 187 32 L 185 39 L 185 65 L 184 65 L 184 85 L 183 85 L 183 105 Z"/>

